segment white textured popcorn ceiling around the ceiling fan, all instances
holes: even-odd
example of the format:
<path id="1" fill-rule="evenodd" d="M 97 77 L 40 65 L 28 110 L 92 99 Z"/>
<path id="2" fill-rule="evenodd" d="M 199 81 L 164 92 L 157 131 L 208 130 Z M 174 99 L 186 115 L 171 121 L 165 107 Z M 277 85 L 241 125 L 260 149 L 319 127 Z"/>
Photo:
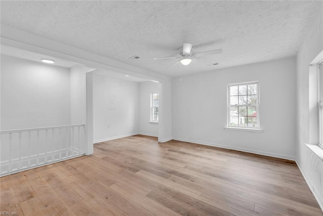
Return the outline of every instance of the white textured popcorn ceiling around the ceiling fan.
<path id="1" fill-rule="evenodd" d="M 2 1 L 1 23 L 174 76 L 296 55 L 319 7 L 315 1 Z M 194 52 L 222 48 L 223 54 L 170 69 L 176 60 L 152 60 L 178 56 L 183 42 Z M 140 59 L 128 59 L 135 55 Z"/>

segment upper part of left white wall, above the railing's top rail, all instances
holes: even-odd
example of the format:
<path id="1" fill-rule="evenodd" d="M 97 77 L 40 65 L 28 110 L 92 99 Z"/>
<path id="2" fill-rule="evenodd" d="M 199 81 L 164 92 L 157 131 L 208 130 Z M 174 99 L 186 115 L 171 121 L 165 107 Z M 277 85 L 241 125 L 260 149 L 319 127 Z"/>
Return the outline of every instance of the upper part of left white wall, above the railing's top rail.
<path id="1" fill-rule="evenodd" d="M 71 122 L 69 68 L 1 56 L 1 129 Z"/>

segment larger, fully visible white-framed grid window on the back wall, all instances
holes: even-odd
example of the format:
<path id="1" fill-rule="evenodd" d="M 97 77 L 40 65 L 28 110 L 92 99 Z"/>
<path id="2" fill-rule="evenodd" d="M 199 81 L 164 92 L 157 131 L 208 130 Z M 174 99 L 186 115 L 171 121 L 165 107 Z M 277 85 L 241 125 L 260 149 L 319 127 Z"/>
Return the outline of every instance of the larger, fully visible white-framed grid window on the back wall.
<path id="1" fill-rule="evenodd" d="M 228 127 L 260 128 L 258 81 L 228 85 Z"/>

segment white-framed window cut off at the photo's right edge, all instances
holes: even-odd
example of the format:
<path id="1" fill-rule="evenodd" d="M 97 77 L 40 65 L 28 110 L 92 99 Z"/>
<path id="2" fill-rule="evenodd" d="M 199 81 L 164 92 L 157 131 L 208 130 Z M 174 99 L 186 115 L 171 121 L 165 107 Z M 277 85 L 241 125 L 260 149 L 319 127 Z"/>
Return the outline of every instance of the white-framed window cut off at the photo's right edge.
<path id="1" fill-rule="evenodd" d="M 319 145 L 323 147 L 323 63 L 318 64 L 317 79 L 317 102 L 318 102 L 318 119 L 319 119 Z"/>

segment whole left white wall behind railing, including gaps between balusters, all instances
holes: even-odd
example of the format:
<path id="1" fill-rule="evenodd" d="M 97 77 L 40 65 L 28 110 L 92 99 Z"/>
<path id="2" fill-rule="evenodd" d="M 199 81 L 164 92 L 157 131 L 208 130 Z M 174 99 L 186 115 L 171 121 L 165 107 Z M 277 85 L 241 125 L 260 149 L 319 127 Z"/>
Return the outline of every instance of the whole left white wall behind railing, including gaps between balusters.
<path id="1" fill-rule="evenodd" d="M 1 78 L 3 131 L 71 124 L 69 68 L 1 56 Z M 12 161 L 17 162 L 19 156 L 25 158 L 30 153 L 30 159 L 35 163 L 36 154 L 44 156 L 45 151 L 58 151 L 60 146 L 64 150 L 69 145 L 64 130 L 62 134 L 59 134 L 58 129 L 49 131 L 48 137 L 45 133 L 47 131 L 39 131 L 39 134 L 25 132 L 21 134 L 21 139 L 17 133 L 12 134 L 11 145 L 9 145 L 11 135 L 2 135 L 1 161 L 8 162 L 11 157 Z M 40 158 L 40 162 L 44 160 L 44 157 Z M 7 162 L 2 163 L 1 171 L 8 170 Z M 22 165 L 27 165 L 27 161 L 23 161 Z M 17 167 L 18 163 L 12 166 Z"/>

